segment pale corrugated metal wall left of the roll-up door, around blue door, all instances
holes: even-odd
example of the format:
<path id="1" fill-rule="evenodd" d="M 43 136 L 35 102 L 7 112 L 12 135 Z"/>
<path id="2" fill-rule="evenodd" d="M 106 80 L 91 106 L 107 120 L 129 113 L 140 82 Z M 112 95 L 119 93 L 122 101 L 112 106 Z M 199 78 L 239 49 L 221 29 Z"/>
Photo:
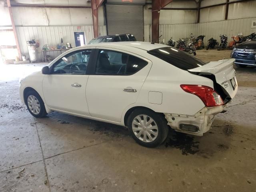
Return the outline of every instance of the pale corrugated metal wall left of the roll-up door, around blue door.
<path id="1" fill-rule="evenodd" d="M 93 26 L 29 26 L 29 27 L 16 27 L 20 51 L 23 55 L 28 56 L 28 48 L 26 41 L 35 39 L 40 43 L 38 48 L 38 61 L 42 61 L 42 47 L 48 44 L 49 48 L 56 48 L 60 44 L 60 38 L 63 39 L 63 45 L 67 42 L 75 46 L 74 32 L 84 32 L 86 44 L 93 38 Z M 99 26 L 99 33 L 101 36 L 106 35 L 106 26 Z M 60 55 L 60 52 L 49 52 L 52 58 Z"/>

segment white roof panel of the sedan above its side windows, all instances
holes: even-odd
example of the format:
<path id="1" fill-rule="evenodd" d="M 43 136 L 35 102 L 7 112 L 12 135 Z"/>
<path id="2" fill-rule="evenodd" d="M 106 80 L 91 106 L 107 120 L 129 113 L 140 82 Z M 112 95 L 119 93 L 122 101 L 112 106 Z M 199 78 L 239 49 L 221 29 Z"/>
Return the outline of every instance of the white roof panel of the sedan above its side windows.
<path id="1" fill-rule="evenodd" d="M 140 42 L 140 41 L 121 41 L 121 42 L 106 42 L 106 43 L 97 43 L 97 44 L 88 44 L 88 45 L 84 45 L 82 47 L 104 47 L 107 46 L 109 48 L 124 48 L 126 46 L 128 47 L 134 47 L 134 48 L 138 48 L 138 49 L 142 49 L 142 50 L 152 50 L 152 49 L 157 49 L 157 48 L 163 48 L 163 47 L 167 47 L 167 45 L 164 44 L 152 44 L 150 42 Z"/>

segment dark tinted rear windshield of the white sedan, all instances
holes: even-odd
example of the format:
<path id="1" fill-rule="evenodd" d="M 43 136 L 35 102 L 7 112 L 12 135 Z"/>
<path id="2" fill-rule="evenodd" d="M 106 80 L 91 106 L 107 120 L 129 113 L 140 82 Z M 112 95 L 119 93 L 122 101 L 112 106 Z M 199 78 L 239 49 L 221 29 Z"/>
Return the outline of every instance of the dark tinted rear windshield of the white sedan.
<path id="1" fill-rule="evenodd" d="M 153 49 L 148 51 L 148 53 L 183 70 L 194 69 L 207 64 L 205 61 L 170 46 Z"/>

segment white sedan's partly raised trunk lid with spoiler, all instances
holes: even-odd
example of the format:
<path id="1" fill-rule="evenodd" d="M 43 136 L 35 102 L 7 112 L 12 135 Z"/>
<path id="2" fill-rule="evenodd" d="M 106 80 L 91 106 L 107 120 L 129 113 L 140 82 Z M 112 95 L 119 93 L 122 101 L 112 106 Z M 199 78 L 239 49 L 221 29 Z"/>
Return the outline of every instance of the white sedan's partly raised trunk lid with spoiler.
<path id="1" fill-rule="evenodd" d="M 224 93 L 232 99 L 237 92 L 236 72 L 233 67 L 234 61 L 235 59 L 212 61 L 188 71 L 202 76 L 207 74 L 214 75 L 216 83 L 219 84 Z"/>

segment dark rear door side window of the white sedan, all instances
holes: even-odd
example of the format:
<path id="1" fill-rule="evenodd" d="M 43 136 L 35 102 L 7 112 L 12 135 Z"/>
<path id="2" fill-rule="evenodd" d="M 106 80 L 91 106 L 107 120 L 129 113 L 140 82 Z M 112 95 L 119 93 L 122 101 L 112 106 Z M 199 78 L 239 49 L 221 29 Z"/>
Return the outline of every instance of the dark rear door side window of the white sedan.
<path id="1" fill-rule="evenodd" d="M 95 74 L 131 75 L 146 66 L 148 62 L 127 53 L 99 50 Z"/>

